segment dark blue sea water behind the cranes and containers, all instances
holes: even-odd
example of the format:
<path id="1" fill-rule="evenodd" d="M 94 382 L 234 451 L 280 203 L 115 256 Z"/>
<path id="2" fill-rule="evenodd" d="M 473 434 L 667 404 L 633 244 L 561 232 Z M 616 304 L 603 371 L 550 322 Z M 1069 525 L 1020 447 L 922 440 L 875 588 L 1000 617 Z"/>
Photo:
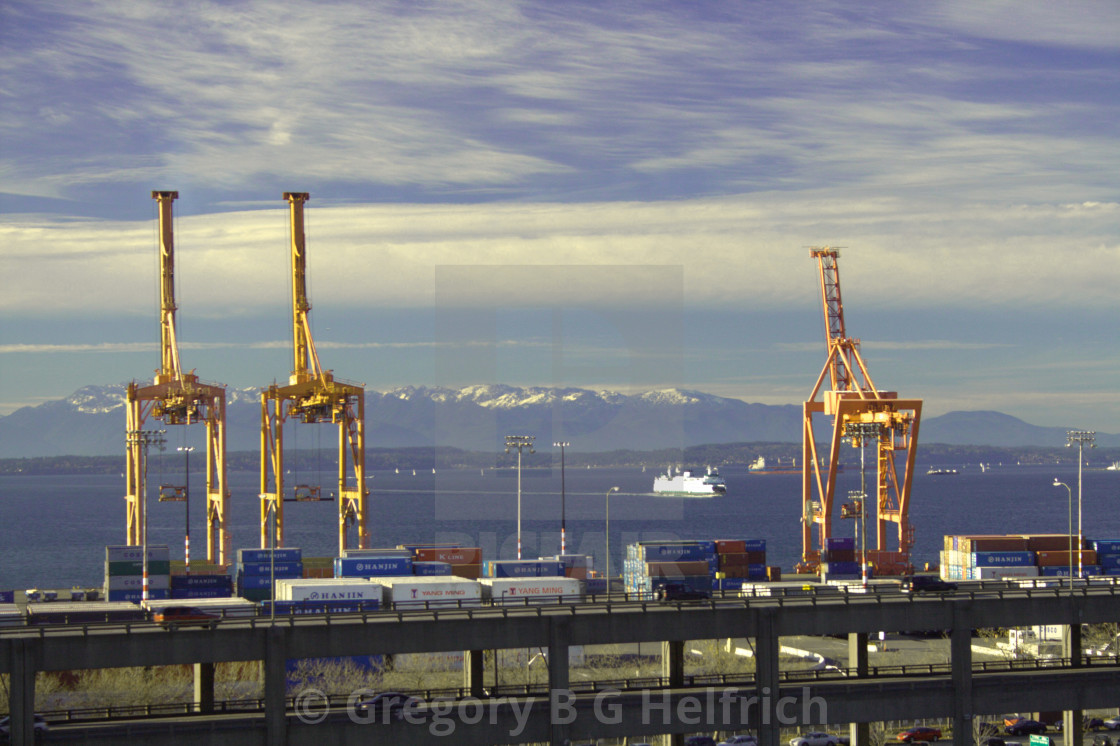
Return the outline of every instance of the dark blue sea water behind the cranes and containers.
<path id="1" fill-rule="evenodd" d="M 1073 489 L 1075 466 L 958 466 L 951 476 L 918 469 L 912 491 L 916 526 L 915 565 L 936 562 L 942 537 L 958 533 L 1065 533 L 1068 498 L 1058 477 Z M 610 503 L 612 571 L 622 571 L 625 545 L 656 539 L 765 539 L 767 562 L 790 571 L 801 554 L 801 477 L 752 475 L 746 467 L 721 469 L 728 492 L 712 498 L 651 494 L 656 470 L 575 468 L 566 470 L 564 519 L 569 552 L 606 560 L 606 493 Z M 166 543 L 183 558 L 184 504 L 159 503 L 150 475 L 149 543 Z M 869 472 L 870 477 L 870 472 Z M 167 477 L 168 481 L 174 481 Z M 192 473 L 192 558 L 205 559 L 205 498 L 202 473 Z M 233 548 L 259 545 L 258 474 L 230 474 Z M 300 481 L 316 481 L 302 475 Z M 320 484 L 324 493 L 330 475 Z M 461 542 L 483 548 L 485 559 L 511 559 L 517 547 L 517 479 L 511 469 L 375 472 L 368 478 L 373 547 Z M 838 477 L 837 494 L 859 488 L 859 469 Z M 523 557 L 560 549 L 560 470 L 522 472 Z M 104 548 L 125 540 L 124 478 L 110 475 L 0 476 L 0 589 L 100 586 Z M 1120 473 L 1085 469 L 1082 492 L 1085 537 L 1120 538 Z M 841 502 L 843 502 L 841 500 Z M 337 504 L 287 503 L 286 545 L 305 556 L 335 556 Z M 833 535 L 853 535 L 853 521 L 834 521 Z M 869 521 L 870 525 L 870 521 Z"/>

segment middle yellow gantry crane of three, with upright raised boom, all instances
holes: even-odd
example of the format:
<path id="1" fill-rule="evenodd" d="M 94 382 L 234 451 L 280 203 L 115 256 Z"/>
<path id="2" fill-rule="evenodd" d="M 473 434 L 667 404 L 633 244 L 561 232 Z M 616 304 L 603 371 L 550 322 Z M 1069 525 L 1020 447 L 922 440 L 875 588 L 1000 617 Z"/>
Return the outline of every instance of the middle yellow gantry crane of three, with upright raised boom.
<path id="1" fill-rule="evenodd" d="M 270 512 L 273 538 L 283 547 L 283 504 L 287 501 L 330 501 L 318 485 L 295 485 L 284 496 L 283 426 L 291 418 L 302 423 L 338 426 L 338 551 L 347 549 L 351 528 L 357 547 L 368 545 L 370 495 L 365 486 L 365 389 L 335 380 L 323 370 L 311 338 L 307 297 L 307 253 L 304 203 L 307 193 L 286 192 L 291 222 L 292 372 L 288 385 L 273 383 L 261 392 L 261 548 L 269 547 Z"/>

